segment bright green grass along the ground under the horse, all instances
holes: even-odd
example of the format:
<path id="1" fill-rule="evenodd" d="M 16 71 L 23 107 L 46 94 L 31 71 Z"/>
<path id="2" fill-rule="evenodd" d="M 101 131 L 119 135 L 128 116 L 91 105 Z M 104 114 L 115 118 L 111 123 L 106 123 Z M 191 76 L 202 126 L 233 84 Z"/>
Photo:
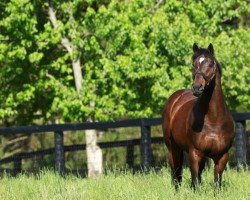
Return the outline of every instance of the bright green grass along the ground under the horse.
<path id="1" fill-rule="evenodd" d="M 220 192 L 213 189 L 213 171 L 206 170 L 200 192 L 190 188 L 190 173 L 184 170 L 183 184 L 178 192 L 171 184 L 168 169 L 149 175 L 130 172 L 107 172 L 98 179 L 68 175 L 60 177 L 51 171 L 39 175 L 4 175 L 0 178 L 0 199 L 250 199 L 250 171 L 227 170 Z"/>

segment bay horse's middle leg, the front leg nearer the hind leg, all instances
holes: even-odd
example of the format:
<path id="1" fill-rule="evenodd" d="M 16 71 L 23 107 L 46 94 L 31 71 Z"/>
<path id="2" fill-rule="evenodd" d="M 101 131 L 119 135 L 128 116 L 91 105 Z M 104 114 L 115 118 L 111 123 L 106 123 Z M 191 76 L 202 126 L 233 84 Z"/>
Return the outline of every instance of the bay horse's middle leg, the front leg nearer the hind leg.
<path id="1" fill-rule="evenodd" d="M 189 150 L 189 165 L 192 176 L 192 187 L 195 191 L 199 191 L 199 171 L 200 165 L 204 160 L 203 153 L 199 152 L 196 149 Z"/>

